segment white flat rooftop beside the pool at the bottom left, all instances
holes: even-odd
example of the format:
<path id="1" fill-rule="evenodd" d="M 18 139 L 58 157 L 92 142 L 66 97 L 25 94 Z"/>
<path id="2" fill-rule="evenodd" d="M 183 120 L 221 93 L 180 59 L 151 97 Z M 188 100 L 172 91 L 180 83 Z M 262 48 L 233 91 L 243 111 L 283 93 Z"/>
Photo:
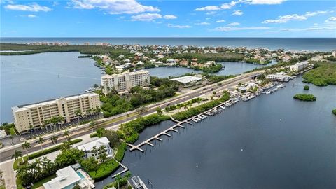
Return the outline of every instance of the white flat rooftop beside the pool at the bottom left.
<path id="1" fill-rule="evenodd" d="M 45 189 L 65 188 L 81 180 L 80 176 L 71 166 L 59 169 L 56 172 L 57 177 L 47 183 L 43 183 Z"/>

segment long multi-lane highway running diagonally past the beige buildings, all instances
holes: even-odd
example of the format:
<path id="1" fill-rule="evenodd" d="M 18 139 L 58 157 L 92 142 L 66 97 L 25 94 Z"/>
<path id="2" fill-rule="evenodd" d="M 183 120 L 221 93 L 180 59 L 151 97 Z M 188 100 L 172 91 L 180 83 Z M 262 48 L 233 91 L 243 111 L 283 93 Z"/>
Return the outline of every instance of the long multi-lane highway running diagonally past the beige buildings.
<path id="1" fill-rule="evenodd" d="M 207 85 L 206 88 L 204 89 L 204 87 L 200 88 L 200 89 L 197 89 L 197 90 L 193 90 L 192 92 L 188 92 L 186 94 L 181 94 L 177 97 L 173 97 L 171 99 L 167 99 L 163 102 L 158 102 L 156 104 L 151 104 L 151 105 L 148 105 L 148 110 L 145 112 L 145 113 L 142 113 L 140 116 L 147 116 L 151 113 L 154 113 L 156 112 L 156 109 L 158 107 L 160 107 L 160 109 L 165 109 L 166 106 L 170 106 L 170 105 L 173 105 L 173 104 L 179 104 L 179 103 L 182 103 L 182 102 L 185 102 L 189 99 L 193 99 L 195 97 L 199 97 L 203 94 L 206 94 L 207 92 L 212 92 L 214 90 L 223 90 L 227 87 L 230 87 L 230 86 L 234 86 L 234 85 L 237 85 L 237 83 L 239 82 L 242 82 L 244 80 L 248 80 L 249 78 L 257 75 L 258 73 L 261 73 L 262 71 L 257 71 L 257 72 L 253 72 L 253 73 L 246 73 L 246 74 L 242 74 L 240 76 L 237 76 L 235 78 L 230 78 L 228 80 L 224 80 L 222 81 L 222 85 L 218 85 L 218 83 L 214 83 L 214 84 L 211 84 L 211 85 Z M 130 117 L 127 117 L 125 116 L 126 114 L 130 114 L 134 111 L 130 111 L 128 113 L 123 113 L 121 115 L 118 115 L 118 116 L 113 116 L 113 119 L 114 118 L 123 118 L 122 120 L 118 120 L 116 122 L 113 122 L 109 125 L 104 125 L 104 126 L 100 126 L 100 127 L 113 127 L 113 129 L 118 129 L 118 125 L 120 125 L 120 123 L 125 123 L 127 121 L 130 121 L 130 120 L 133 120 L 137 117 L 139 117 L 139 115 L 136 115 L 136 116 L 130 116 Z M 106 120 L 111 120 L 111 118 L 108 118 Z M 97 130 L 99 127 L 94 127 L 93 128 L 93 131 Z M 71 137 L 71 139 L 75 139 L 75 138 L 78 138 L 78 137 L 81 137 L 85 134 L 90 134 L 92 133 L 92 128 L 87 126 L 83 129 L 80 129 L 79 131 L 78 130 L 75 130 L 75 131 L 71 131 L 71 130 L 68 130 L 69 131 L 69 135 Z M 55 134 L 57 136 L 59 136 L 59 139 L 58 139 L 58 143 L 62 143 L 62 141 L 65 141 L 65 137 L 61 137 L 63 135 L 63 132 L 59 132 L 59 134 Z M 40 151 L 41 150 L 41 147 L 39 145 L 36 145 L 36 140 L 37 139 L 31 139 L 31 141 L 29 141 L 31 143 L 31 148 L 29 148 L 28 152 L 29 153 L 33 153 L 35 151 Z M 53 146 L 52 142 L 50 141 L 50 136 L 49 137 L 45 137 L 45 144 L 43 144 L 43 148 L 48 148 L 50 146 Z M 14 151 L 15 150 L 18 150 L 18 151 L 22 151 L 22 153 L 25 154 L 25 150 L 22 150 L 22 147 L 21 145 L 15 145 L 15 146 L 10 146 L 10 148 L 4 148 L 4 149 L 1 149 L 0 150 L 0 162 L 5 162 L 7 160 L 10 160 Z"/>

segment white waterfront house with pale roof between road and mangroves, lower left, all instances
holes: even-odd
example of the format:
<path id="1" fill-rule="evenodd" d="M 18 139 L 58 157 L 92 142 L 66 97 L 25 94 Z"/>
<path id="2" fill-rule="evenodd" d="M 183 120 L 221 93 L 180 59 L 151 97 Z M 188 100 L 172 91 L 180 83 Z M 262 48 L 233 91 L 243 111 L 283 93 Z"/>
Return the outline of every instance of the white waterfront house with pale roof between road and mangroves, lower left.
<path id="1" fill-rule="evenodd" d="M 104 146 L 104 152 L 99 151 L 100 146 Z M 110 141 L 107 137 L 102 137 L 94 141 L 77 146 L 80 151 L 84 152 L 85 158 L 94 157 L 99 158 L 99 154 L 106 153 L 109 157 L 113 156 L 113 149 L 110 147 Z"/>

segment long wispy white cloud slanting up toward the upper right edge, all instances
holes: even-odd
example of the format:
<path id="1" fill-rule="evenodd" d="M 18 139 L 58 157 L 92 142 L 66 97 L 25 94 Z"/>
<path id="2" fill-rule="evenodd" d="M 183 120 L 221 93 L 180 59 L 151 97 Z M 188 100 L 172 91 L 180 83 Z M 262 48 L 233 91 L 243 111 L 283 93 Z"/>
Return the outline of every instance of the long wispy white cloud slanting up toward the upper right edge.
<path id="1" fill-rule="evenodd" d="M 333 11 L 329 11 L 329 10 L 324 10 L 324 11 L 314 11 L 314 12 L 306 12 L 304 13 L 304 15 L 297 15 L 297 14 L 293 14 L 293 15 L 283 15 L 283 16 L 279 16 L 278 19 L 269 19 L 269 20 L 264 20 L 262 23 L 263 24 L 269 24 L 269 23 L 286 23 L 289 22 L 290 20 L 307 20 L 307 18 L 312 17 L 312 16 L 316 16 L 316 15 L 321 15 L 321 14 L 326 14 L 326 13 L 333 13 Z"/>

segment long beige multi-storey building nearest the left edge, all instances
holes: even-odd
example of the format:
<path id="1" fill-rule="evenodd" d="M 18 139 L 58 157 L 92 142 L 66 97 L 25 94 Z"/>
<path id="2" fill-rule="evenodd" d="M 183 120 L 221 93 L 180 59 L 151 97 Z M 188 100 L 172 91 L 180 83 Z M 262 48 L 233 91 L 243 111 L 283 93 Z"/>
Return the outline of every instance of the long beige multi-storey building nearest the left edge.
<path id="1" fill-rule="evenodd" d="M 76 118 L 76 111 L 86 113 L 88 109 L 100 107 L 99 94 L 87 93 L 62 97 L 59 99 L 25 104 L 12 107 L 15 127 L 18 132 L 27 132 L 30 125 L 34 129 L 41 128 L 45 120 L 54 116 L 63 116 L 64 123 Z"/>

